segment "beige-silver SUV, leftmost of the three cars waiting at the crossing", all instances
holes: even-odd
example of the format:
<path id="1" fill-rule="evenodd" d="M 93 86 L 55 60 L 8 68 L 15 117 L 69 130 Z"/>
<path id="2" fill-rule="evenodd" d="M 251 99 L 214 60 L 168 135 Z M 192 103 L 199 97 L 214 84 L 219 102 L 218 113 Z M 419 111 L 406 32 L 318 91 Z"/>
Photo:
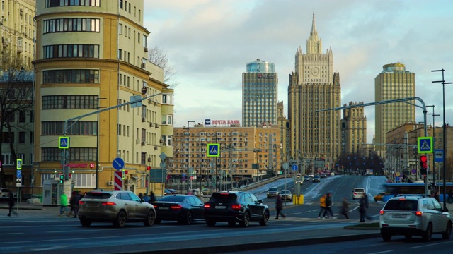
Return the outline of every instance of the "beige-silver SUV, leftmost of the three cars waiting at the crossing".
<path id="1" fill-rule="evenodd" d="M 79 220 L 82 226 L 93 222 L 110 222 L 124 227 L 126 222 L 143 222 L 152 226 L 156 219 L 153 205 L 132 191 L 89 191 L 79 201 Z"/>

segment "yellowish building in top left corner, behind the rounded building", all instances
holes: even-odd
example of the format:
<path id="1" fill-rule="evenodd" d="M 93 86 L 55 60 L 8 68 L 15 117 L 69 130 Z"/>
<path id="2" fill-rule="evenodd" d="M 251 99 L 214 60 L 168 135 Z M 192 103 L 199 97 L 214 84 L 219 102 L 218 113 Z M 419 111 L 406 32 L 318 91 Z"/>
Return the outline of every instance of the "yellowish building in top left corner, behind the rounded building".
<path id="1" fill-rule="evenodd" d="M 35 4 L 35 0 L 1 1 L 1 71 L 8 71 L 11 61 L 17 60 L 25 71 L 33 70 Z"/>

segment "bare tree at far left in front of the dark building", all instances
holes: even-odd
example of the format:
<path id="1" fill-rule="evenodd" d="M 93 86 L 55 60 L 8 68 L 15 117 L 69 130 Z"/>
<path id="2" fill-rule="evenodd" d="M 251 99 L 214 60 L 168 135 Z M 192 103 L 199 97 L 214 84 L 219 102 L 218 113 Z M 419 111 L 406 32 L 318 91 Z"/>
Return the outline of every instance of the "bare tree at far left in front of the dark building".
<path id="1" fill-rule="evenodd" d="M 4 62 L 0 71 L 0 155 L 2 143 L 8 143 L 11 161 L 18 158 L 14 147 L 14 131 L 24 129 L 21 117 L 33 110 L 33 73 L 25 71 L 20 58 Z M 28 130 L 30 131 L 30 130 Z M 33 131 L 33 129 L 32 129 Z M 6 186 L 4 170 L 0 171 L 0 187 Z"/>

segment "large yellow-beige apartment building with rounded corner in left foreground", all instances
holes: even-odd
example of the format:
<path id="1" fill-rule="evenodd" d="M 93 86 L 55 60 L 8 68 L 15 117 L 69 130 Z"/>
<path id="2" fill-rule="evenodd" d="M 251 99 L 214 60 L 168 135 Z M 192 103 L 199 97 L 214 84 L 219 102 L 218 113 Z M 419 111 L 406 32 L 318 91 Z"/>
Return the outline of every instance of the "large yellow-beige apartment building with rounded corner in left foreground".
<path id="1" fill-rule="evenodd" d="M 162 190 L 164 179 L 149 185 L 149 177 L 162 153 L 173 157 L 173 90 L 147 61 L 143 20 L 143 0 L 37 2 L 35 193 L 63 162 L 72 188 L 114 189 L 116 158 L 125 162 L 123 189 Z M 149 98 L 129 104 L 132 96 Z"/>

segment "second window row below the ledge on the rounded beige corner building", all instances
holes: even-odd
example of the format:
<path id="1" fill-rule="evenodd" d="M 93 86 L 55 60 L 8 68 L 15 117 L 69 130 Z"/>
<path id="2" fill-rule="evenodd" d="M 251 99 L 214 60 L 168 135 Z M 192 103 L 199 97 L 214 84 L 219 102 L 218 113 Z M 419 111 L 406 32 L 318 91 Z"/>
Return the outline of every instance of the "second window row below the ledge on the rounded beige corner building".
<path id="1" fill-rule="evenodd" d="M 97 109 L 97 95 L 49 95 L 42 97 L 42 109 Z"/>

